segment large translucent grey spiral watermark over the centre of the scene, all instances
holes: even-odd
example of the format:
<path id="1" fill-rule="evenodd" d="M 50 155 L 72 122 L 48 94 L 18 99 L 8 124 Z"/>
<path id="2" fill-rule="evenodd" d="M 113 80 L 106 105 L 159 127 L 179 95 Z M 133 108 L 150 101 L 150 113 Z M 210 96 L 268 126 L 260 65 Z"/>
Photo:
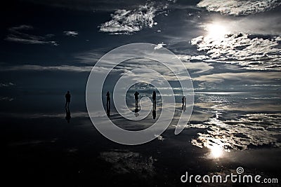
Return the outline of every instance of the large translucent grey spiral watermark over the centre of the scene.
<path id="1" fill-rule="evenodd" d="M 153 64 L 143 67 L 141 62 L 139 62 L 140 66 L 132 67 L 130 60 L 140 58 L 161 63 L 163 67 L 169 69 L 169 74 L 157 71 L 157 68 L 153 69 L 152 67 L 155 67 Z M 143 120 L 150 114 L 152 102 L 149 97 L 142 97 L 140 99 L 141 110 L 138 111 L 137 115 L 126 104 L 126 92 L 137 83 L 153 85 L 162 99 L 162 111 L 159 118 L 145 130 L 130 131 L 118 127 L 107 116 L 103 107 L 105 79 L 110 73 L 116 72 L 117 67 L 121 63 L 126 71 L 119 74 L 120 77 L 115 84 L 112 99 L 115 109 L 120 116 L 126 120 L 136 121 Z M 186 97 L 187 101 L 186 111 L 181 113 L 174 132 L 179 134 L 187 125 L 193 109 L 194 93 L 192 81 L 185 65 L 174 53 L 152 43 L 131 43 L 120 46 L 103 55 L 96 62 L 86 85 L 86 107 L 91 122 L 103 136 L 119 144 L 137 145 L 152 141 L 152 139 L 157 138 L 155 134 L 158 136 L 162 134 L 174 118 L 176 100 L 173 88 L 169 83 L 171 75 L 174 77 L 172 81 L 176 80 L 180 84 L 183 96 Z"/>

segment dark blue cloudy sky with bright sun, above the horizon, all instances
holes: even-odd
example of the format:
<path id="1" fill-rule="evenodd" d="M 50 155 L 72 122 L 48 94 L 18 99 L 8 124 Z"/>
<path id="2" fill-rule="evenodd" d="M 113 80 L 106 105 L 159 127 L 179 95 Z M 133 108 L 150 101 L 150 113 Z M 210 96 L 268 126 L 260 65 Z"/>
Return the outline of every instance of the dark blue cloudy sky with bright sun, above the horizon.
<path id="1" fill-rule="evenodd" d="M 195 92 L 280 91 L 280 4 L 278 0 L 8 1 L 0 11 L 0 99 L 9 101 L 30 92 L 84 93 L 100 57 L 138 42 L 175 53 L 188 69 Z M 127 68 L 121 66 L 119 71 Z"/>

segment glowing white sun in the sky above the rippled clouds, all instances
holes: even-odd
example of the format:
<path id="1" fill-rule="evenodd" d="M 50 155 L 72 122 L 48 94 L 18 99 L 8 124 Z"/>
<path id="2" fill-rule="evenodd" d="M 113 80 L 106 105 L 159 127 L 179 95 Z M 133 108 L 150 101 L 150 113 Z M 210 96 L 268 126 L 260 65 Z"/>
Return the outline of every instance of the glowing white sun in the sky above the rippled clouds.
<path id="1" fill-rule="evenodd" d="M 218 24 L 209 24 L 207 25 L 206 29 L 208 31 L 207 37 L 211 39 L 221 39 L 229 33 L 226 27 Z"/>

